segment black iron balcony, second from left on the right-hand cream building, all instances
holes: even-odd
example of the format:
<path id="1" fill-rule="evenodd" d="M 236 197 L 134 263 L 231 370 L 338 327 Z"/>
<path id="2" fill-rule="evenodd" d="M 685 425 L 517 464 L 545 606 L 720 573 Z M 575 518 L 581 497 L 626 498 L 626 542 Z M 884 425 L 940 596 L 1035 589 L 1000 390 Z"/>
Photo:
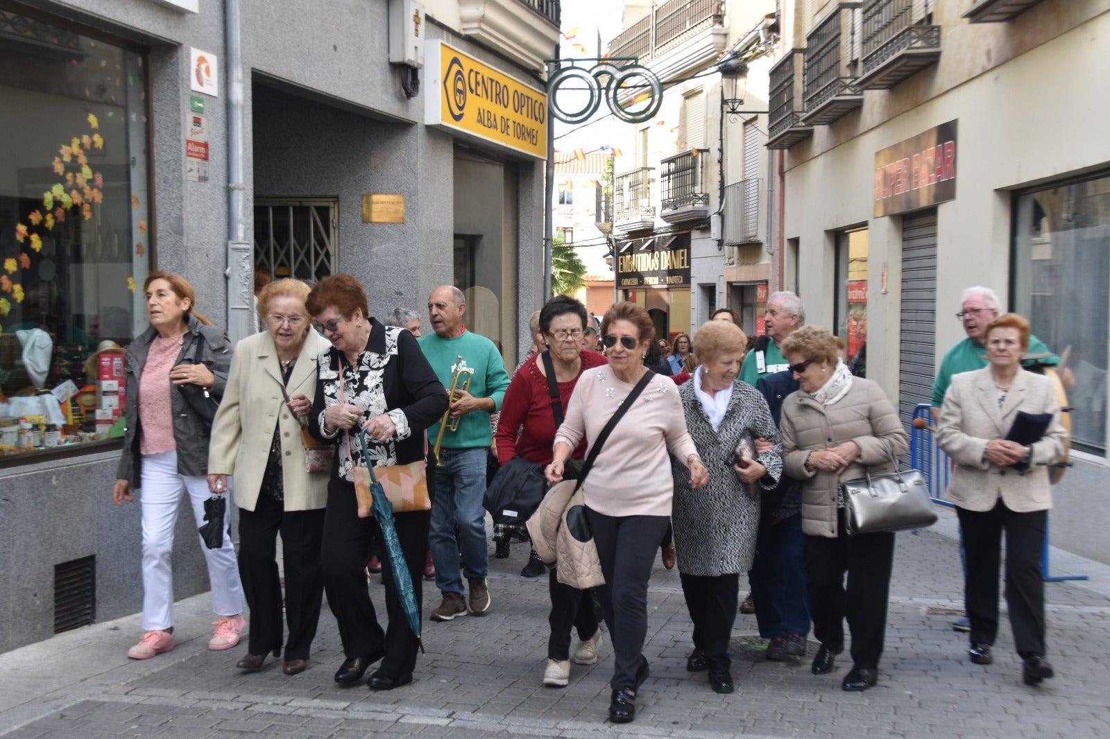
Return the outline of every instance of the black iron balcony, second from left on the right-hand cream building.
<path id="1" fill-rule="evenodd" d="M 864 91 L 856 85 L 858 50 L 852 48 L 858 17 L 858 2 L 840 3 L 806 37 L 807 125 L 827 125 L 864 105 Z"/>

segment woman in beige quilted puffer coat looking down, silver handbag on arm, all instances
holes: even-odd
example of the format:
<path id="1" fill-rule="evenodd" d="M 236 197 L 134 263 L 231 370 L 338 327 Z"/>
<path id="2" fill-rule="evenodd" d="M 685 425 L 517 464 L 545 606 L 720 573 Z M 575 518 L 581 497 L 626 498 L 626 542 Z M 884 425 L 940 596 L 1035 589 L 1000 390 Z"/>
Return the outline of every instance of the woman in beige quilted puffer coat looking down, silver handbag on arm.
<path id="1" fill-rule="evenodd" d="M 840 483 L 864 477 L 868 468 L 889 470 L 890 460 L 909 448 L 909 436 L 882 388 L 852 377 L 837 360 L 828 330 L 803 326 L 779 350 L 799 384 L 783 402 L 780 431 L 786 474 L 803 480 L 804 556 L 814 636 L 820 641 L 813 672 L 833 671 L 847 619 L 854 665 L 841 687 L 867 690 L 878 682 L 895 535 L 847 536 Z"/>

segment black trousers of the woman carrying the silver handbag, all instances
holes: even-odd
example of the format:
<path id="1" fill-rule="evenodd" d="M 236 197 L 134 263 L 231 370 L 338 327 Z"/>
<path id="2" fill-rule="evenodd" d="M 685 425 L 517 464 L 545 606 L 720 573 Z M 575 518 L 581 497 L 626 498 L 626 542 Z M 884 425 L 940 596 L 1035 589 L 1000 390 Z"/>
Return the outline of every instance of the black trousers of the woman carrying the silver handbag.
<path id="1" fill-rule="evenodd" d="M 887 634 L 895 535 L 848 536 L 842 508 L 839 514 L 836 538 L 806 535 L 814 637 L 833 651 L 842 651 L 847 618 L 852 661 L 857 667 L 874 669 L 879 666 Z M 848 574 L 847 589 L 845 573 Z"/>

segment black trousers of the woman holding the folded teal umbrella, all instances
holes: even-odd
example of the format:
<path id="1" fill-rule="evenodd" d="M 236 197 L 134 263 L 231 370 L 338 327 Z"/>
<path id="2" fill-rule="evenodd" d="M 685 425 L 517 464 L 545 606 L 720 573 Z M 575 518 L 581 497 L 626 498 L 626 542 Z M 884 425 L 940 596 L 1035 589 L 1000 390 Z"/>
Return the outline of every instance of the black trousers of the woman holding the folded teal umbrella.
<path id="1" fill-rule="evenodd" d="M 327 484 L 327 508 L 324 517 L 324 545 L 322 566 L 324 593 L 340 627 L 343 654 L 347 657 L 370 657 L 384 649 L 385 657 L 377 671 L 383 677 L 396 678 L 413 671 L 420 641 L 412 632 L 404 607 L 393 579 L 393 563 L 382 543 L 382 583 L 385 586 L 385 615 L 387 629 L 377 622 L 374 604 L 370 599 L 366 561 L 370 544 L 381 536 L 375 518 L 359 518 L 354 485 L 332 479 Z M 413 581 L 416 613 L 424 603 L 424 558 L 427 556 L 427 532 L 431 512 L 397 514 L 393 517 L 401 553 L 404 555 L 408 577 Z"/>

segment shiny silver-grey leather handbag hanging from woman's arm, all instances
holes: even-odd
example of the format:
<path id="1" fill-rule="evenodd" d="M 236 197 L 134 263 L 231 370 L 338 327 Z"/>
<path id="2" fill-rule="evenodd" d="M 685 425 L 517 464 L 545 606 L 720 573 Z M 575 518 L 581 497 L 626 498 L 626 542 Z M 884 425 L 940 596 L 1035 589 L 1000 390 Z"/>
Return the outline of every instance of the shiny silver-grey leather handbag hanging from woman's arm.
<path id="1" fill-rule="evenodd" d="M 890 456 L 889 449 L 887 454 Z M 929 486 L 921 473 L 917 469 L 899 472 L 894 456 L 890 463 L 894 472 L 871 475 L 868 469 L 864 478 L 840 484 L 848 536 L 905 532 L 937 523 Z"/>

